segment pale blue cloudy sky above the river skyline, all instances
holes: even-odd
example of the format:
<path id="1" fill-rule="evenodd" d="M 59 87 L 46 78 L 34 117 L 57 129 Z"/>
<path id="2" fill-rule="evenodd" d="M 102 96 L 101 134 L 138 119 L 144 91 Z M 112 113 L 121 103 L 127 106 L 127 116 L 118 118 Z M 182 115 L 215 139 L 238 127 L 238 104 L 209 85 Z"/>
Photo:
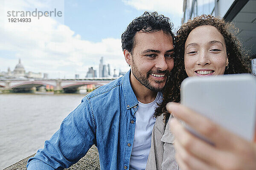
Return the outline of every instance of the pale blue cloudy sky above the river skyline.
<path id="1" fill-rule="evenodd" d="M 61 17 L 18 14 L 31 18 L 30 23 L 9 22 L 18 17 L 7 13 L 55 8 Z M 183 0 L 0 0 L 0 71 L 8 67 L 13 71 L 21 59 L 26 72 L 84 78 L 89 67 L 99 74 L 101 57 L 111 70 L 128 71 L 121 47 L 121 34 L 128 24 L 144 11 L 157 11 L 171 19 L 176 31 L 182 9 Z"/>

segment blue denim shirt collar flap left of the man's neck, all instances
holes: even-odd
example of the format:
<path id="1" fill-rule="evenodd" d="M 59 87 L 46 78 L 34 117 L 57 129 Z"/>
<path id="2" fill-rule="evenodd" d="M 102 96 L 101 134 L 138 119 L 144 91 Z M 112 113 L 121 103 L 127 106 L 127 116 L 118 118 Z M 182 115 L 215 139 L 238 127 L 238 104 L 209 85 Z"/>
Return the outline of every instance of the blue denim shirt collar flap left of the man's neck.
<path id="1" fill-rule="evenodd" d="M 123 82 L 122 82 L 126 109 L 130 109 L 139 103 L 137 100 L 137 97 L 134 94 L 134 91 L 131 88 L 130 74 L 131 74 L 131 69 L 127 73 L 125 73 L 123 77 Z"/>

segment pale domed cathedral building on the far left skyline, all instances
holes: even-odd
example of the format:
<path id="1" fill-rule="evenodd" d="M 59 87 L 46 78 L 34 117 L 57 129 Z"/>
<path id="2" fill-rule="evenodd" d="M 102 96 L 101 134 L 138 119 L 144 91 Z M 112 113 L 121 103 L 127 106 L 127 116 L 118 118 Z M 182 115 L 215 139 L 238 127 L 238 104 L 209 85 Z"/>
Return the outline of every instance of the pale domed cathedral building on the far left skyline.
<path id="1" fill-rule="evenodd" d="M 41 79 L 42 73 L 34 73 L 32 71 L 29 71 L 26 73 L 24 66 L 21 64 L 21 61 L 19 59 L 18 64 L 15 66 L 14 71 L 11 71 L 10 68 L 8 68 L 7 72 L 1 72 L 1 77 L 6 78 L 35 78 L 35 79 Z"/>

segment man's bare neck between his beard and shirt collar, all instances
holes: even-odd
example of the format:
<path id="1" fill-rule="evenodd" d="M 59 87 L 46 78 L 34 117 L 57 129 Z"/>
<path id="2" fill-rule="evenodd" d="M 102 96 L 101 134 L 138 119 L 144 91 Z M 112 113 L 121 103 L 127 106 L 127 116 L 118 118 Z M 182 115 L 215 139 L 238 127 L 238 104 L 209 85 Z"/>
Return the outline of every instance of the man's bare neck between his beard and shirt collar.
<path id="1" fill-rule="evenodd" d="M 137 100 L 142 103 L 153 102 L 157 96 L 157 91 L 151 91 L 142 85 L 131 73 L 130 75 L 131 88 L 134 91 Z"/>

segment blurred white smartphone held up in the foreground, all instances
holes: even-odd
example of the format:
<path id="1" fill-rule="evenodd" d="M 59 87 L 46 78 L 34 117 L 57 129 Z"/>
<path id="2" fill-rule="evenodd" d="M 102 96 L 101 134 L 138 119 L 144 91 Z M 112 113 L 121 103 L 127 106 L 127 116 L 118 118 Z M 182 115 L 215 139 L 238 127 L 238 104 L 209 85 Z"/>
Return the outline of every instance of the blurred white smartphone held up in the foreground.
<path id="1" fill-rule="evenodd" d="M 189 77 L 180 86 L 181 104 L 243 137 L 255 140 L 256 77 L 228 74 Z M 211 143 L 188 125 L 195 136 Z"/>

